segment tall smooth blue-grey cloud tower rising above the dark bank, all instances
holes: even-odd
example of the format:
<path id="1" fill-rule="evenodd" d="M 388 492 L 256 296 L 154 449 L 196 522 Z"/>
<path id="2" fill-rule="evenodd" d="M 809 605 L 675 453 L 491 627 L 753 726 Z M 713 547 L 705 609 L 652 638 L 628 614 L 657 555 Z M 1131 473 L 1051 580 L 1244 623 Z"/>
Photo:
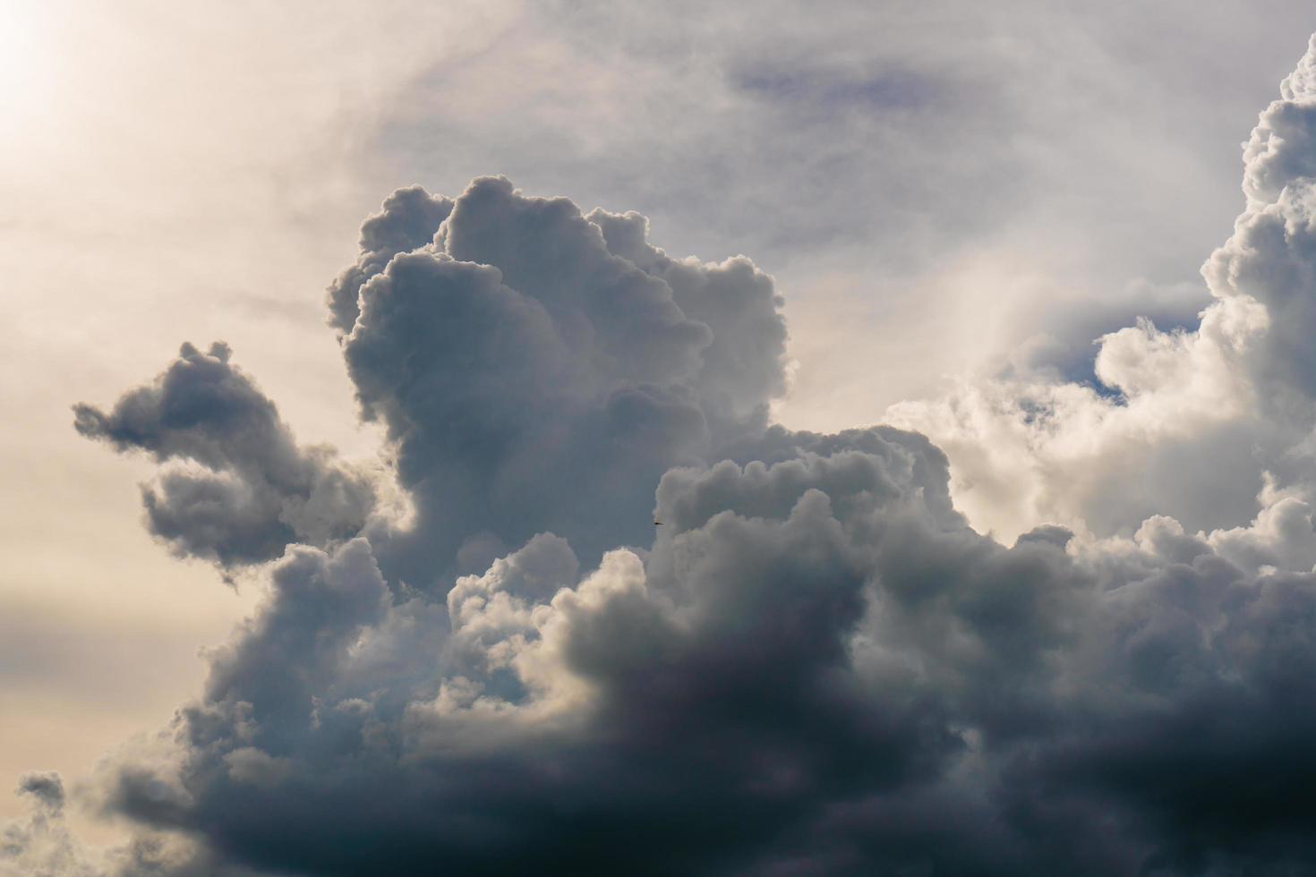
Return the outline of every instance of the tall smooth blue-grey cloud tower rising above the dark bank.
<path id="1" fill-rule="evenodd" d="M 590 560 L 644 544 L 663 472 L 762 430 L 783 389 L 771 280 L 671 260 L 642 222 L 484 178 L 362 287 L 343 352 L 417 509 L 386 565 L 421 584 L 545 530 Z"/>

